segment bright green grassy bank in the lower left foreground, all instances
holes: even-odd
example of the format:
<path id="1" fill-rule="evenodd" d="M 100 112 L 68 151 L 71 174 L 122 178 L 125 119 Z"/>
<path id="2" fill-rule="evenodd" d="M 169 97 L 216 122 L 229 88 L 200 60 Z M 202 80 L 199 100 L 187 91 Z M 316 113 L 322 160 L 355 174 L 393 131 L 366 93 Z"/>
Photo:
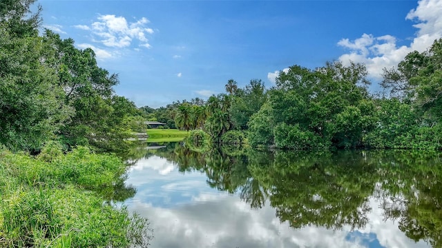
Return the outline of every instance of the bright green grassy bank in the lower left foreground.
<path id="1" fill-rule="evenodd" d="M 52 145 L 37 157 L 0 149 L 0 247 L 146 245 L 147 220 L 98 193 L 125 171 L 86 147 L 63 154 Z"/>

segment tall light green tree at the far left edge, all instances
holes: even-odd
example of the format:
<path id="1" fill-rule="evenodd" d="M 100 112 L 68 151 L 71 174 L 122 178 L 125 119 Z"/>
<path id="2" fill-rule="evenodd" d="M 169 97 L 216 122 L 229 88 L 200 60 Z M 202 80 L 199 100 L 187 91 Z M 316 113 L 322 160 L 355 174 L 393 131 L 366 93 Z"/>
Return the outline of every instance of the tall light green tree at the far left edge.
<path id="1" fill-rule="evenodd" d="M 0 3 L 0 143 L 31 151 L 54 138 L 73 115 L 56 71 L 43 62 L 39 12 L 25 19 L 33 2 Z"/>

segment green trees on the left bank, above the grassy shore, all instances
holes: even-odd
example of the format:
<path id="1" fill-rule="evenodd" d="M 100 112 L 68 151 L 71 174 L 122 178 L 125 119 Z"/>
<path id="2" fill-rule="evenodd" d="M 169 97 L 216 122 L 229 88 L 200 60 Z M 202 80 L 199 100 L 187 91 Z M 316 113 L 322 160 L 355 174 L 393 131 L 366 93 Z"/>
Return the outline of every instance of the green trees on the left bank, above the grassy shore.
<path id="1" fill-rule="evenodd" d="M 115 95 L 116 74 L 95 52 L 46 30 L 39 36 L 34 1 L 8 0 L 0 12 L 0 143 L 36 152 L 48 140 L 67 147 L 124 147 L 140 112 Z"/>

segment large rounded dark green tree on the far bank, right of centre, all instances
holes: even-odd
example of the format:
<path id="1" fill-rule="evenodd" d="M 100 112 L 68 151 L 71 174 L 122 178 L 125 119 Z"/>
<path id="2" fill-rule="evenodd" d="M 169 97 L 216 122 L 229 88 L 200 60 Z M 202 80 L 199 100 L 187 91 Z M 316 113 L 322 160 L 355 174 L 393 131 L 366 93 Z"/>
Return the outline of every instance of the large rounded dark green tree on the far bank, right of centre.
<path id="1" fill-rule="evenodd" d="M 273 138 L 268 128 L 249 123 L 253 130 L 267 130 L 266 135 L 251 134 L 256 143 L 273 141 L 287 149 L 356 147 L 362 145 L 363 134 L 374 127 L 374 105 L 367 92 L 367 71 L 361 64 L 344 66 L 329 62 L 316 70 L 294 65 L 281 72 L 276 87 L 269 90 L 269 106 L 260 118 L 273 119 Z M 258 84 L 259 85 L 259 84 Z M 260 92 L 258 87 L 258 92 Z M 259 113 L 259 112 L 258 112 Z M 253 131 L 251 131 L 253 132 Z"/>

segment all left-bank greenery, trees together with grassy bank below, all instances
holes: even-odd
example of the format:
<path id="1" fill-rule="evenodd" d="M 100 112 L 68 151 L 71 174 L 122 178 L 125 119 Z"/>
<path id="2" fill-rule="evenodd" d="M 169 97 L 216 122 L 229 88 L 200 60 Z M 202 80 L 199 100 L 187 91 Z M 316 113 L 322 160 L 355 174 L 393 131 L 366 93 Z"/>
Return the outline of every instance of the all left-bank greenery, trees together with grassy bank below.
<path id="1" fill-rule="evenodd" d="M 0 247 L 146 247 L 147 220 L 111 204 L 135 194 L 127 165 L 91 153 L 124 149 L 141 112 L 93 50 L 39 35 L 34 2 L 0 2 Z"/>

